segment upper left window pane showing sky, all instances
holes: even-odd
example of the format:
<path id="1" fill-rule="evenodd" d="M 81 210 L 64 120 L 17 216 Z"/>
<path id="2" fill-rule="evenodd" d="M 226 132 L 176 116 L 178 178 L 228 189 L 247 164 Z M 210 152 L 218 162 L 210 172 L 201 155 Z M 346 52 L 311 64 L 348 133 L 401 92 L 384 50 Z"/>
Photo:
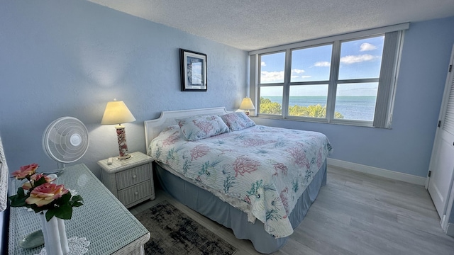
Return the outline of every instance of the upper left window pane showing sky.
<path id="1" fill-rule="evenodd" d="M 260 84 L 284 82 L 285 52 L 260 56 Z"/>

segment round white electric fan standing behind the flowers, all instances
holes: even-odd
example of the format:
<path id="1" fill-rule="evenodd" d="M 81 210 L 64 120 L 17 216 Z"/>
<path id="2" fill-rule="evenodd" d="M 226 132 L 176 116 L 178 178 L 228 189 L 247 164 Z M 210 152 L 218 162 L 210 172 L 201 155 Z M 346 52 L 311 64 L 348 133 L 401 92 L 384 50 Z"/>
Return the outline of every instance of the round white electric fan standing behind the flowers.
<path id="1" fill-rule="evenodd" d="M 76 162 L 89 145 L 88 130 L 82 121 L 73 117 L 62 117 L 48 125 L 43 134 L 45 154 L 57 162 L 57 171 L 61 174 L 65 164 Z"/>

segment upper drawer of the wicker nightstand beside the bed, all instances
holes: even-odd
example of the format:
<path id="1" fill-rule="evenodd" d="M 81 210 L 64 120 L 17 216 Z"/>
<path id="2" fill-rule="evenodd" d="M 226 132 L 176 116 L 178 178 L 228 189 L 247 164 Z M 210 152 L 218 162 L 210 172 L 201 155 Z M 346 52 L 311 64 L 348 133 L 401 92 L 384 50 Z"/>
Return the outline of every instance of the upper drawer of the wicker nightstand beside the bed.
<path id="1" fill-rule="evenodd" d="M 116 188 L 120 191 L 123 188 L 128 188 L 142 181 L 149 180 L 150 174 L 150 164 L 143 164 L 126 171 L 118 172 L 115 174 Z"/>

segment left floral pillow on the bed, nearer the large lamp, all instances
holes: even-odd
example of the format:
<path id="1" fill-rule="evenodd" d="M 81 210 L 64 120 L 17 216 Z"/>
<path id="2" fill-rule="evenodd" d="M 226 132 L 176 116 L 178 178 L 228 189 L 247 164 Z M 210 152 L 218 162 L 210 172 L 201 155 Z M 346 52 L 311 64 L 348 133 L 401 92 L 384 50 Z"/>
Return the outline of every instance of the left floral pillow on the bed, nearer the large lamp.
<path id="1" fill-rule="evenodd" d="M 177 120 L 184 137 L 189 141 L 201 140 L 228 132 L 228 127 L 218 115 L 203 115 Z"/>

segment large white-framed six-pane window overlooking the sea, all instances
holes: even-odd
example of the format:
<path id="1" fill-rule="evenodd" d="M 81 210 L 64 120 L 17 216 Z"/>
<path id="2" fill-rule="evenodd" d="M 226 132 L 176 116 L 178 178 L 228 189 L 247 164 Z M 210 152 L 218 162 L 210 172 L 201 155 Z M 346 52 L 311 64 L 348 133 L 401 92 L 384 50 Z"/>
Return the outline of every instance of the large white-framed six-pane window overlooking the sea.
<path id="1" fill-rule="evenodd" d="M 406 28 L 402 24 L 250 52 L 258 116 L 390 128 Z"/>

